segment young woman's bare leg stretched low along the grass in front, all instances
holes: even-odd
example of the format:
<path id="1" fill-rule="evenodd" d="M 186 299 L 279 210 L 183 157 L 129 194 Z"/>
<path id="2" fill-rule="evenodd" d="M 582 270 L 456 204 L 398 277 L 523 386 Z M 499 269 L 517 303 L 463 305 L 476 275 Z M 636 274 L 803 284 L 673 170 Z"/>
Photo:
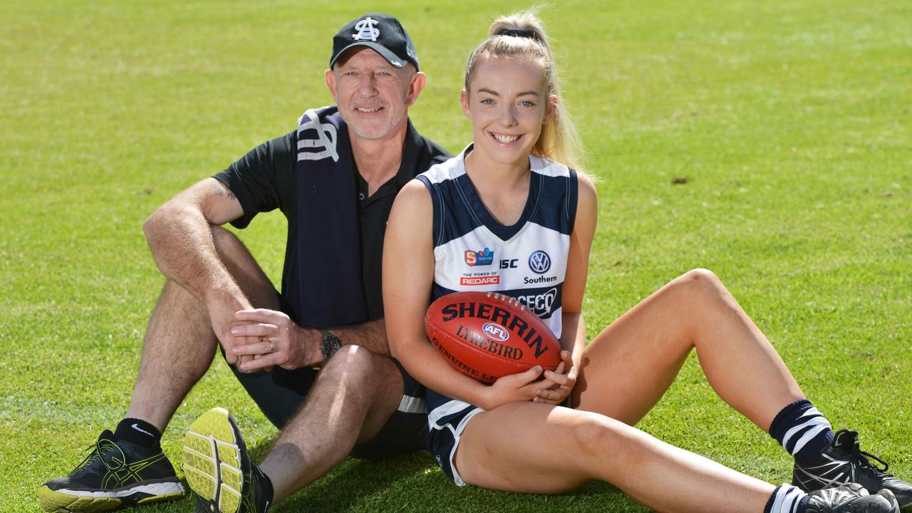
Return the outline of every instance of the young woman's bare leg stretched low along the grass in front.
<path id="1" fill-rule="evenodd" d="M 606 481 L 656 511 L 760 513 L 775 489 L 604 415 L 541 403 L 475 415 L 455 463 L 467 483 L 516 492 Z"/>

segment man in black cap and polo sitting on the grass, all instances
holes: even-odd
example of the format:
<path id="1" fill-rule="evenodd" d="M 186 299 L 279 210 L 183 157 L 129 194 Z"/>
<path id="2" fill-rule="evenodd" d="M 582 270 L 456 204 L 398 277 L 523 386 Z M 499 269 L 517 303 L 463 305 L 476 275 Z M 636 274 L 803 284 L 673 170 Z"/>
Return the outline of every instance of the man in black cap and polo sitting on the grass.
<path id="1" fill-rule="evenodd" d="M 307 110 L 296 131 L 192 185 L 146 221 L 168 282 L 130 407 L 76 470 L 39 489 L 42 508 L 98 511 L 181 497 L 161 433 L 219 346 L 282 433 L 257 467 L 226 411 L 193 423 L 183 469 L 201 509 L 265 511 L 349 453 L 423 448 L 420 385 L 386 356 L 379 257 L 399 188 L 449 155 L 409 122 L 425 76 L 396 18 L 370 14 L 343 26 L 329 67 L 337 106 Z M 288 219 L 281 293 L 220 226 L 243 228 L 275 208 Z"/>

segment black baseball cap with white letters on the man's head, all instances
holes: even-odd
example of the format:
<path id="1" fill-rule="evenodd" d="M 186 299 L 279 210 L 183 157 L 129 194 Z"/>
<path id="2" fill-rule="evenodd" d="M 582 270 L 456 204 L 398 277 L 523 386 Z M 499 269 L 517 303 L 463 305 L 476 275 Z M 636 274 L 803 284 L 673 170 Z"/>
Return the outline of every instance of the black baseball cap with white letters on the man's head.
<path id="1" fill-rule="evenodd" d="M 329 68 L 353 47 L 368 47 L 396 68 L 402 68 L 410 62 L 418 69 L 415 44 L 399 20 L 393 16 L 371 13 L 359 16 L 343 26 L 333 37 L 333 56 L 329 59 Z"/>

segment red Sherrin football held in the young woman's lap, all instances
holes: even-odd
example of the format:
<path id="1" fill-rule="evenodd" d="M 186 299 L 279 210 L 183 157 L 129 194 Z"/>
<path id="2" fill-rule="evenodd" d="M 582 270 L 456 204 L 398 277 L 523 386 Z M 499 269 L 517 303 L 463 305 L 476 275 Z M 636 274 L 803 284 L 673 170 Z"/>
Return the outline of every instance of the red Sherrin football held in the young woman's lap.
<path id="1" fill-rule="evenodd" d="M 522 303 L 496 292 L 456 292 L 430 304 L 424 329 L 459 372 L 480 382 L 535 365 L 554 371 L 561 345 Z"/>

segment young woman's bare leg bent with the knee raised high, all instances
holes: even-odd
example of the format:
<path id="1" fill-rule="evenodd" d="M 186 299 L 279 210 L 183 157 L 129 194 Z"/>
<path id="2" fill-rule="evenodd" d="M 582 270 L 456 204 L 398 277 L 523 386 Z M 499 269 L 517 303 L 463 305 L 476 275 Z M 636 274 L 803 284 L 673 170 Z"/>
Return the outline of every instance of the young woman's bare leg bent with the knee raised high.
<path id="1" fill-rule="evenodd" d="M 716 393 L 764 431 L 783 407 L 804 398 L 770 341 L 719 278 L 695 269 L 641 301 L 589 344 L 573 403 L 636 424 L 694 348 Z"/>

